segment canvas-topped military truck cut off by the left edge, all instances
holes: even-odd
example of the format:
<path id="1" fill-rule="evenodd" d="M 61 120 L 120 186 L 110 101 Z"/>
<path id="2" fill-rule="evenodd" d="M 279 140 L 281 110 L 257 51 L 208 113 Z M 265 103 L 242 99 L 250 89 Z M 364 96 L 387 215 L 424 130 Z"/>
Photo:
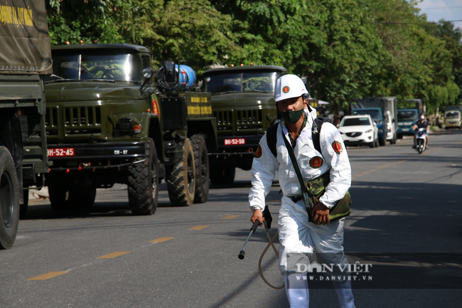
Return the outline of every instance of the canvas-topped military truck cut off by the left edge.
<path id="1" fill-rule="evenodd" d="M 0 0 L 0 249 L 16 240 L 28 187 L 48 172 L 43 76 L 51 73 L 43 1 Z M 23 188 L 24 187 L 24 188 Z"/>

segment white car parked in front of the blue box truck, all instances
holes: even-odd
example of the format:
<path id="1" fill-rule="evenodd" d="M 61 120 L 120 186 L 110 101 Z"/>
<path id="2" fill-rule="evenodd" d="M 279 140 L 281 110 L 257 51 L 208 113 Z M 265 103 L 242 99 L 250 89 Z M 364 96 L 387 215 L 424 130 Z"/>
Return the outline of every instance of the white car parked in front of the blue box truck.
<path id="1" fill-rule="evenodd" d="M 379 146 L 379 129 L 370 115 L 345 115 L 338 130 L 346 146 L 360 144 L 370 147 Z"/>

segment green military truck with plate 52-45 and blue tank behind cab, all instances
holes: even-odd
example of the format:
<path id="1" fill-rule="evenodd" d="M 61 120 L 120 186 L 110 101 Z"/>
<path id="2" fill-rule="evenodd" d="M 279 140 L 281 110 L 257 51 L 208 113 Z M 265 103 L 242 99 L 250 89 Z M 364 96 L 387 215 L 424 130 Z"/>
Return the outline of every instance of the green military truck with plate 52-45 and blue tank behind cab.
<path id="1" fill-rule="evenodd" d="M 173 205 L 207 200 L 216 121 L 210 93 L 188 92 L 193 70 L 166 62 L 154 80 L 149 50 L 127 44 L 52 53 L 45 120 L 53 166 L 45 186 L 54 210 L 91 207 L 97 188 L 120 183 L 132 213 L 151 215 L 162 179 Z"/>

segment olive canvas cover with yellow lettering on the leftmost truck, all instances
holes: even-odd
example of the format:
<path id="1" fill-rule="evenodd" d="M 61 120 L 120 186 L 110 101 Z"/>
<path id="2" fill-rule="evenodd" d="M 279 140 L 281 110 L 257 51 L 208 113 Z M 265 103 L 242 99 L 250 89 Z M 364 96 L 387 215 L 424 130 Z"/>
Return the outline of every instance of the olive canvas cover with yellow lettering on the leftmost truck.
<path id="1" fill-rule="evenodd" d="M 0 0 L 0 74 L 51 74 L 43 0 Z"/>

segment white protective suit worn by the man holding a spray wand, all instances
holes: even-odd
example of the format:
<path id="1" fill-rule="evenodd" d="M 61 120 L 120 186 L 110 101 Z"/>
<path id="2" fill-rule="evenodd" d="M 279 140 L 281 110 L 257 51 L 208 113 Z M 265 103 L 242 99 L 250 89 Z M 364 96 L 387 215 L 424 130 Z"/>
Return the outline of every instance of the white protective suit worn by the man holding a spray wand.
<path id="1" fill-rule="evenodd" d="M 340 132 L 331 123 L 323 124 L 320 134 L 322 153 L 316 151 L 311 137 L 316 110 L 310 109 L 311 112 L 308 111 L 308 108 L 304 110 L 307 117 L 306 126 L 296 139 L 294 156 L 297 159 L 304 181 L 315 179 L 322 174 L 326 174 L 326 172 L 330 172 L 331 182 L 319 201 L 327 208 L 332 208 L 338 200 L 345 196 L 348 188 L 350 188 L 350 161 Z M 268 147 L 266 134 L 259 142 L 261 156 L 256 156 L 252 164 L 252 188 L 249 192 L 249 207 L 252 210 L 264 210 L 265 197 L 271 190 L 272 180 L 277 170 L 279 185 L 284 194 L 281 199 L 278 221 L 279 243 L 281 243 L 279 268 L 284 275 L 287 297 L 291 307 L 308 307 L 307 282 L 305 283 L 306 287 L 295 287 L 295 289 L 289 289 L 288 287 L 290 280 L 294 278 L 291 273 L 296 272 L 296 269 L 291 265 L 288 266 L 287 255 L 299 253 L 310 258 L 314 250 L 318 261 L 326 264 L 348 264 L 348 260 L 343 253 L 343 219 L 326 225 L 315 225 L 308 222 L 308 213 L 303 200 L 296 203 L 291 200 L 291 197 L 301 196 L 302 191 L 287 152 L 281 129 L 286 139 L 290 140 L 284 120 L 281 120 L 276 132 L 277 157 L 272 154 Z M 321 164 L 319 164 L 320 158 Z M 337 284 L 334 283 L 334 286 L 338 294 L 340 307 L 355 307 L 350 282 L 337 282 Z M 301 294 L 300 292 L 305 293 Z"/>

